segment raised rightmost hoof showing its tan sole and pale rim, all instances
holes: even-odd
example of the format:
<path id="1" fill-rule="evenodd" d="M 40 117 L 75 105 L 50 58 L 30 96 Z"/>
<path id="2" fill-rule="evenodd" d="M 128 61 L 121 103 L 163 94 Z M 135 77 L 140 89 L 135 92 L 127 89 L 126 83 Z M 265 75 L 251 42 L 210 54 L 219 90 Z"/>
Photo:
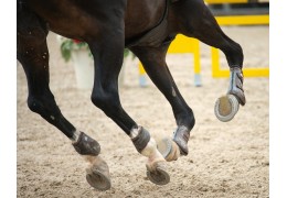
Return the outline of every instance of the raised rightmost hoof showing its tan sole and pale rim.
<path id="1" fill-rule="evenodd" d="M 240 102 L 233 95 L 219 98 L 215 102 L 214 113 L 222 122 L 231 121 L 240 109 Z"/>

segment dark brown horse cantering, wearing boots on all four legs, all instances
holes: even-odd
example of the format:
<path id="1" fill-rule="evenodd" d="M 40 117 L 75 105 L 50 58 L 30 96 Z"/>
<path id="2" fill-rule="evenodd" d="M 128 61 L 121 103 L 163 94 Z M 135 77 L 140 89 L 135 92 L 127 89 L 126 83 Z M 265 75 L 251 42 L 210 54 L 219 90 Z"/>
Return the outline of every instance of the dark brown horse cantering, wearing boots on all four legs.
<path id="1" fill-rule="evenodd" d="M 230 121 L 245 105 L 243 50 L 219 26 L 203 0 L 17 0 L 17 58 L 28 81 L 28 107 L 71 140 L 75 151 L 89 162 L 87 183 L 98 190 L 111 186 L 99 143 L 74 127 L 61 112 L 50 89 L 47 33 L 84 41 L 94 58 L 92 102 L 130 138 L 147 157 L 147 176 L 156 185 L 170 182 L 167 163 L 188 155 L 190 132 L 195 124 L 192 109 L 181 96 L 166 63 L 177 34 L 195 37 L 220 48 L 230 66 L 230 85 L 215 102 L 215 116 Z M 118 75 L 124 50 L 142 63 L 152 82 L 172 108 L 177 130 L 156 142 L 149 131 L 124 110 Z"/>

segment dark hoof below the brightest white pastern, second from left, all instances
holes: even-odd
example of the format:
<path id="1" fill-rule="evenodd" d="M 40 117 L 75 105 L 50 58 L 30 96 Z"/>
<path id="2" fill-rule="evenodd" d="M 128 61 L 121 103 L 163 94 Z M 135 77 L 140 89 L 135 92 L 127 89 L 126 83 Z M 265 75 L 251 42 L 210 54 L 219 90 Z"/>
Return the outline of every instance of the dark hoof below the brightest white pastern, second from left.
<path id="1" fill-rule="evenodd" d="M 160 163 L 158 163 L 157 167 L 152 170 L 147 167 L 147 176 L 149 180 L 156 185 L 166 185 L 170 182 L 169 174 L 166 172 L 164 166 Z"/>

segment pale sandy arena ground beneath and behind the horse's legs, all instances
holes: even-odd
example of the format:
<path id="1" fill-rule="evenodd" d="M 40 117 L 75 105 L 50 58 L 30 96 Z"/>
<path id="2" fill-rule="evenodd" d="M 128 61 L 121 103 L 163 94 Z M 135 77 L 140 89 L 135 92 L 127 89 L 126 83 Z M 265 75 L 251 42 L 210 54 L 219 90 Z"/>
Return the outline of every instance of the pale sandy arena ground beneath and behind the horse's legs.
<path id="1" fill-rule="evenodd" d="M 268 61 L 268 26 L 224 28 L 242 44 L 245 67 L 265 67 Z M 26 80 L 17 66 L 17 195 L 18 197 L 269 197 L 269 79 L 245 78 L 247 103 L 227 123 L 220 122 L 214 102 L 225 94 L 228 79 L 211 77 L 210 48 L 202 44 L 202 87 L 193 86 L 193 59 L 189 54 L 168 55 L 170 70 L 196 124 L 189 142 L 190 154 L 169 163 L 171 182 L 157 186 L 146 177 L 146 157 L 127 135 L 89 100 L 91 90 L 76 87 L 71 63 L 63 62 L 55 34 L 49 35 L 51 89 L 63 114 L 102 145 L 113 187 L 97 191 L 85 179 L 87 164 L 71 141 L 26 107 Z M 225 59 L 223 58 L 223 62 Z M 138 85 L 137 61 L 125 69 L 120 88 L 123 107 L 156 136 L 171 135 L 176 122 L 171 108 L 148 81 Z"/>

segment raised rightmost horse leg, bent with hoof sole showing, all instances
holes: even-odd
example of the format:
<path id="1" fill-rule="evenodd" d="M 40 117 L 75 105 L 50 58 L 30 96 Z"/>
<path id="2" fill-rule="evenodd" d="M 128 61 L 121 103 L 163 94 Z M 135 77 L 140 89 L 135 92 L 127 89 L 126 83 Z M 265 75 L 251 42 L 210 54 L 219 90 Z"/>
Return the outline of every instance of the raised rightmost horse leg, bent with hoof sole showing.
<path id="1" fill-rule="evenodd" d="M 230 87 L 227 95 L 216 101 L 215 114 L 221 121 L 230 121 L 236 114 L 240 105 L 244 106 L 246 102 L 243 90 L 242 47 L 224 34 L 203 1 L 185 1 L 185 3 L 188 4 L 178 3 L 176 7 L 180 13 L 187 13 L 178 18 L 180 23 L 185 24 L 181 26 L 180 32 L 220 48 L 226 56 L 231 73 Z"/>

